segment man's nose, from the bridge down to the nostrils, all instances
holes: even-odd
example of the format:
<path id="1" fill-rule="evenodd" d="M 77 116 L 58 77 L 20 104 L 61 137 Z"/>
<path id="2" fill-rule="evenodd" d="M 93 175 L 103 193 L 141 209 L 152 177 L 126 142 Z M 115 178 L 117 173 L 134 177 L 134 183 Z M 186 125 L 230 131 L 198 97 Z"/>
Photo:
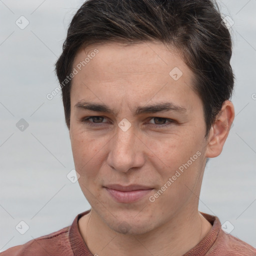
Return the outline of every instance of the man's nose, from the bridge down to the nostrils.
<path id="1" fill-rule="evenodd" d="M 108 143 L 107 164 L 119 172 L 127 172 L 130 168 L 139 168 L 144 164 L 143 143 L 135 134 L 133 127 L 117 131 Z"/>

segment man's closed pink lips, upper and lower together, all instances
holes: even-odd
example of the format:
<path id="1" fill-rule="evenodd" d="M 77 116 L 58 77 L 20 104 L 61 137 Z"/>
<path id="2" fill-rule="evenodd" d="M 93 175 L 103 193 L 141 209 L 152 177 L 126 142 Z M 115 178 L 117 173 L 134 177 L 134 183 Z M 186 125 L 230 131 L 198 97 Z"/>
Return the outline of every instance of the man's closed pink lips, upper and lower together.
<path id="1" fill-rule="evenodd" d="M 137 184 L 128 186 L 112 184 L 104 186 L 104 188 L 115 201 L 122 203 L 136 202 L 153 189 L 152 187 Z"/>

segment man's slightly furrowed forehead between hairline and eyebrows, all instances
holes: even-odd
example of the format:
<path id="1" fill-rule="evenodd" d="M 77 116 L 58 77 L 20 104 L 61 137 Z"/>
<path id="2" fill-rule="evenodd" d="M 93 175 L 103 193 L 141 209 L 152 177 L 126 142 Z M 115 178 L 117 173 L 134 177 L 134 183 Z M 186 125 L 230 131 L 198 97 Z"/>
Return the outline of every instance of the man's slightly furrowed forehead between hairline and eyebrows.
<path id="1" fill-rule="evenodd" d="M 120 97 L 141 103 L 175 98 L 185 103 L 196 97 L 192 71 L 177 50 L 162 43 L 90 45 L 76 53 L 73 68 L 72 105 L 84 98 L 110 103 Z"/>

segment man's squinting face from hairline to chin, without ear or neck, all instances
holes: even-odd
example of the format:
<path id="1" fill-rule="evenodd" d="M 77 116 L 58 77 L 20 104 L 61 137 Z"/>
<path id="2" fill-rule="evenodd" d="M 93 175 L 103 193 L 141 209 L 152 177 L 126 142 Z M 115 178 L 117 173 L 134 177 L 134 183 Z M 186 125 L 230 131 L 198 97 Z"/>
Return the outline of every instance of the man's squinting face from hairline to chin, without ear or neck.
<path id="1" fill-rule="evenodd" d="M 181 57 L 160 43 L 108 43 L 79 50 L 73 68 L 70 140 L 98 218 L 138 234 L 197 210 L 207 141 L 202 101 Z"/>

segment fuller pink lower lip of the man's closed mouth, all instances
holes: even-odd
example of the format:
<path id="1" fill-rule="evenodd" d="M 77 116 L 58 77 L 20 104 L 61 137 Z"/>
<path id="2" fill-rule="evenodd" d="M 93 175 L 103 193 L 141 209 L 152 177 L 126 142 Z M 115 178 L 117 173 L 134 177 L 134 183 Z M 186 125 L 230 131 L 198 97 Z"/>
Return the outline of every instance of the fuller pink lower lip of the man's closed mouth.
<path id="1" fill-rule="evenodd" d="M 147 193 L 149 193 L 152 189 L 141 189 L 134 191 L 119 191 L 115 189 L 111 189 L 105 187 L 107 192 L 117 201 L 117 202 L 135 202 L 144 197 Z"/>

